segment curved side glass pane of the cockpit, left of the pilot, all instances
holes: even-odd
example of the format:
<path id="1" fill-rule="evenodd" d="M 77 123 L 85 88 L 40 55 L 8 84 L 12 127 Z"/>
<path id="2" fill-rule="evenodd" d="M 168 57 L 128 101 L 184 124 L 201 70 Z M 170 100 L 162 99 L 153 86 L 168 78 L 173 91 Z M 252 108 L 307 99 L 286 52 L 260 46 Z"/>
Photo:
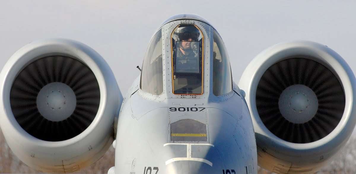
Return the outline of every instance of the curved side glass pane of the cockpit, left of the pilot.
<path id="1" fill-rule="evenodd" d="M 159 95 L 163 92 L 162 32 L 156 32 L 148 44 L 141 70 L 141 90 Z"/>

